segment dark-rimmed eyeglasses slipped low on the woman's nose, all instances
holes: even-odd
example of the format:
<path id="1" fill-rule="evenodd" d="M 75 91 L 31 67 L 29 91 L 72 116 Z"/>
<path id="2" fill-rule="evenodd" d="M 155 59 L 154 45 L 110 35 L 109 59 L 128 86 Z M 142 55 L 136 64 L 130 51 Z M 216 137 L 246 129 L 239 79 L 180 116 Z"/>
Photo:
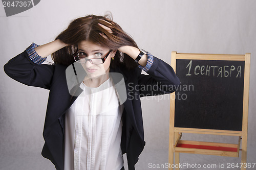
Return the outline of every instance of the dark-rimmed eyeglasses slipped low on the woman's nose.
<path id="1" fill-rule="evenodd" d="M 105 62 L 106 58 L 109 56 L 111 51 L 112 50 L 110 50 L 103 58 L 101 58 L 99 55 L 97 55 L 97 54 L 99 54 L 99 53 L 97 53 L 92 56 L 88 56 L 88 57 L 93 57 L 90 59 L 88 59 L 88 57 L 81 57 L 81 56 L 79 56 L 79 53 L 77 53 L 76 55 L 74 55 L 74 59 L 76 62 L 79 62 L 79 63 L 86 63 L 87 61 L 90 61 L 90 63 L 92 63 L 92 64 L 103 64 Z"/>

